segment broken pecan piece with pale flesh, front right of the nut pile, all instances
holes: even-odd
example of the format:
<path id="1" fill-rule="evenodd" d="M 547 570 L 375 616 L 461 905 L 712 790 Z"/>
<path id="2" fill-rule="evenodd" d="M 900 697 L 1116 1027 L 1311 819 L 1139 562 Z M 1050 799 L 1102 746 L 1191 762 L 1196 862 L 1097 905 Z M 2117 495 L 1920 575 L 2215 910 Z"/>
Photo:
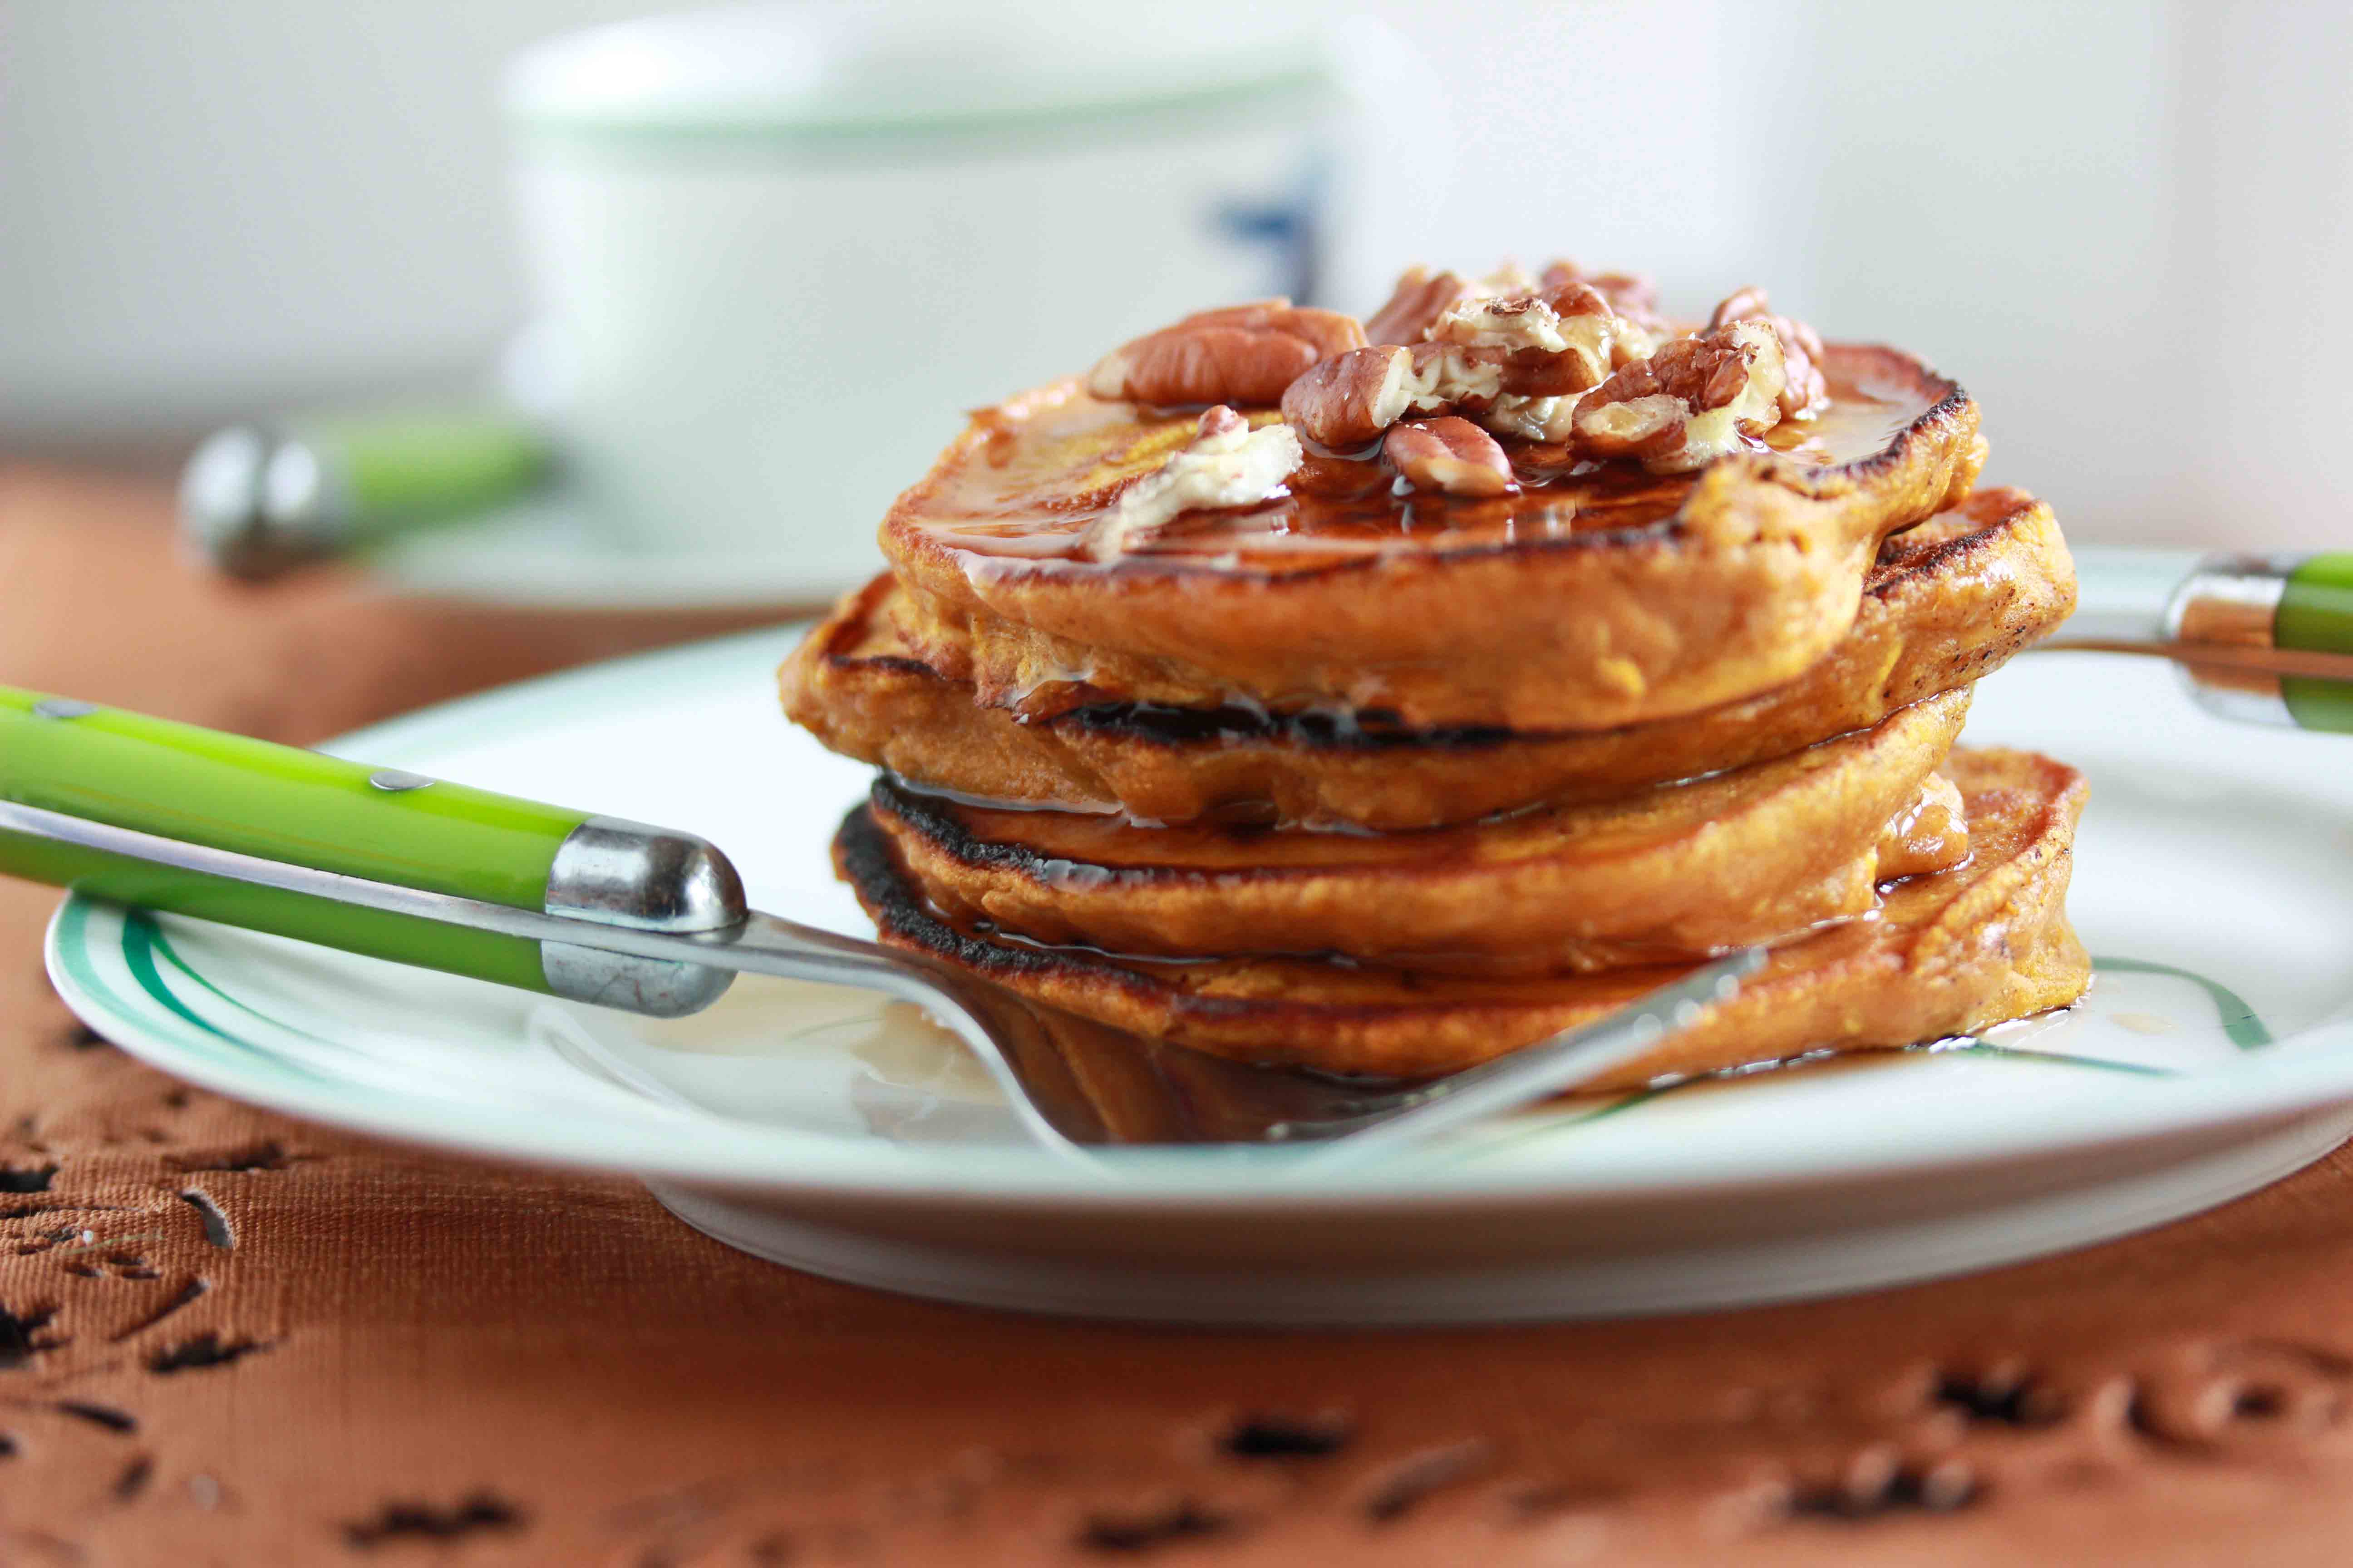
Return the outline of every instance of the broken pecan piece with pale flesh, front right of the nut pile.
<path id="1" fill-rule="evenodd" d="M 1586 395 L 1572 425 L 1591 456 L 1689 473 L 1781 423 L 1786 386 L 1781 334 L 1727 322 L 1617 371 Z"/>

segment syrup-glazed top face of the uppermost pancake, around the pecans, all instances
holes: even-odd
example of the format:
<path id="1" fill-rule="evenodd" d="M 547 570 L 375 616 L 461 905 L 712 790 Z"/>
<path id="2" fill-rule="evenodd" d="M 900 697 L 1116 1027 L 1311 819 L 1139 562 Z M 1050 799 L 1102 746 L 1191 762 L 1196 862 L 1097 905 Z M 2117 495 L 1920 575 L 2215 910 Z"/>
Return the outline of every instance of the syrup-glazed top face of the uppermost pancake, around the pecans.
<path id="1" fill-rule="evenodd" d="M 1828 353 L 1831 407 L 1777 425 L 1762 444 L 1807 468 L 1866 461 L 1953 393 L 1953 383 L 1878 348 Z M 1638 531 L 1668 522 L 1692 475 L 1577 461 L 1562 447 L 1513 442 L 1520 494 L 1447 498 L 1402 491 L 1369 454 L 1311 454 L 1289 496 L 1235 512 L 1195 512 L 1115 559 L 1089 534 L 1118 491 L 1193 435 L 1198 411 L 1136 409 L 1056 383 L 991 411 L 979 461 L 920 498 L 918 529 L 974 576 L 1002 571 L 1301 574 L 1398 552 L 1461 552 L 1548 538 Z M 1273 423 L 1261 409 L 1254 423 Z"/>

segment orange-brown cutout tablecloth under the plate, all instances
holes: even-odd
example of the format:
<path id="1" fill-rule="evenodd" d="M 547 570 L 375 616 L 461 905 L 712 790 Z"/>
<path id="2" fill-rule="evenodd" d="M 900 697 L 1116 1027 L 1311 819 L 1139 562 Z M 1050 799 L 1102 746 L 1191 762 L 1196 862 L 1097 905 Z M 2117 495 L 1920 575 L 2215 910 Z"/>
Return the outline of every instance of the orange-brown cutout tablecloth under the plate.
<path id="1" fill-rule="evenodd" d="M 0 679 L 278 741 L 682 625 L 207 583 L 0 470 Z M 0 1563 L 2339 1563 L 2353 1164 L 1758 1312 L 1066 1324 L 729 1253 L 626 1180 L 188 1091 L 0 886 Z"/>

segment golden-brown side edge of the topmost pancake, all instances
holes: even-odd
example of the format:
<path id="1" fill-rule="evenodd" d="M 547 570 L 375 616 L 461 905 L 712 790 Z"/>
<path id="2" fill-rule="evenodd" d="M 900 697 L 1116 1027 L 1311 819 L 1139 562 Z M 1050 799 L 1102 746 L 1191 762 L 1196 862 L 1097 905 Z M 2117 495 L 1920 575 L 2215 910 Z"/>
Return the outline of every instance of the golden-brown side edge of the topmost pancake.
<path id="1" fill-rule="evenodd" d="M 899 630 L 986 703 L 1080 701 L 1393 712 L 1407 726 L 1607 729 L 1798 677 L 1854 621 L 1878 543 L 1965 496 L 1977 404 L 1908 355 L 1833 348 L 1852 376 L 1911 376 L 1927 409 L 1859 461 L 1732 454 L 1661 524 L 1282 576 L 1049 569 L 974 557 L 929 515 L 1000 461 L 1047 390 L 976 418 L 882 522 Z M 1859 369 L 1861 367 L 1861 369 Z M 1073 395 L 1075 388 L 1073 388 Z"/>

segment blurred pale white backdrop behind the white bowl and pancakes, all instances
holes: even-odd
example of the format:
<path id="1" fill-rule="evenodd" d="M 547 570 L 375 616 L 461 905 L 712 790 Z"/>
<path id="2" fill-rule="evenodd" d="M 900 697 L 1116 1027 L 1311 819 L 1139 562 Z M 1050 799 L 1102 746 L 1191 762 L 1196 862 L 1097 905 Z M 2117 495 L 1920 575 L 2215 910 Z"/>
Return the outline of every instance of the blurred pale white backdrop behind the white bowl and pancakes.
<path id="1" fill-rule="evenodd" d="M 485 364 L 522 315 L 499 66 L 645 9 L 0 0 L 0 442 Z M 1393 113 L 1452 174 L 1327 303 L 1412 259 L 1762 282 L 1958 374 L 2078 538 L 2353 543 L 2353 7 L 1362 9 L 1445 82 Z"/>

